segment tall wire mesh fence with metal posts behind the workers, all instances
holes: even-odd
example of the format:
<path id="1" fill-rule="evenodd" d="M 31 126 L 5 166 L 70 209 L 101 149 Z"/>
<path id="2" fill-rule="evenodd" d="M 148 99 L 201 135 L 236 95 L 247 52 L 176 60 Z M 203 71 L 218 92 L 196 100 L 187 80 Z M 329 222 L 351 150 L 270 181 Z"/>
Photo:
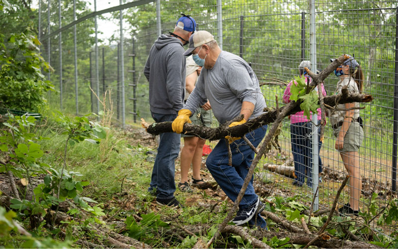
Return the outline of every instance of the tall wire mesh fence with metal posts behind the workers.
<path id="1" fill-rule="evenodd" d="M 369 209 L 374 193 L 380 206 L 397 194 L 397 1 L 138 0 L 104 7 L 91 0 L 100 10 L 86 8 L 76 18 L 72 6 L 62 2 L 58 8 L 59 2 L 41 1 L 39 5 L 42 52 L 55 69 L 48 78 L 60 91 L 49 94 L 51 107 L 79 115 L 98 113 L 102 107 L 94 93 L 102 100 L 103 93 L 110 90 L 105 103 L 113 104 L 115 122 L 123 126 L 139 128 L 140 118 L 152 121 L 143 67 L 157 36 L 172 31 L 181 12 L 191 14 L 197 29 L 212 33 L 223 50 L 251 64 L 268 107 L 276 106 L 276 96 L 282 100 L 287 83 L 298 75 L 300 61 L 312 59 L 312 69 L 322 70 L 330 58 L 344 53 L 355 56 L 365 74 L 364 93 L 374 97 L 371 103 L 361 104 L 364 109 L 360 111 L 364 120 L 359 150 L 360 208 Z M 98 33 L 110 38 L 96 42 L 97 19 L 102 24 L 114 23 L 114 27 L 122 23 L 122 32 L 100 24 Z M 324 81 L 328 95 L 335 92 L 338 80 L 331 75 Z M 269 170 L 272 165 L 294 164 L 290 120 L 286 118 L 279 143 L 256 172 L 256 179 L 263 182 L 258 192 L 264 194 L 272 188 L 285 196 L 299 194 L 299 201 L 309 206 L 319 186 L 315 208 L 330 207 L 347 174 L 334 144 L 328 122 L 320 150 L 322 180 L 312 188 L 293 186 L 291 176 Z M 341 205 L 346 203 L 348 192 L 343 192 L 340 200 Z M 390 229 L 376 222 L 372 226 Z"/>

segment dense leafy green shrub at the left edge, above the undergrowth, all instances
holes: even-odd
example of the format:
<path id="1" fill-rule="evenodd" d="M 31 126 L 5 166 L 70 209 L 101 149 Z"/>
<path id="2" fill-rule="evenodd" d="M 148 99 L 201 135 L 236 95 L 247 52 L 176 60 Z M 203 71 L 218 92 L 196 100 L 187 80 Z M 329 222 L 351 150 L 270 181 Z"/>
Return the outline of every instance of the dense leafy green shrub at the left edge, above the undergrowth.
<path id="1" fill-rule="evenodd" d="M 41 68 L 53 69 L 40 55 L 39 40 L 29 33 L 12 34 L 7 47 L 0 34 L 0 108 L 41 112 L 45 93 L 54 91 L 41 73 Z"/>

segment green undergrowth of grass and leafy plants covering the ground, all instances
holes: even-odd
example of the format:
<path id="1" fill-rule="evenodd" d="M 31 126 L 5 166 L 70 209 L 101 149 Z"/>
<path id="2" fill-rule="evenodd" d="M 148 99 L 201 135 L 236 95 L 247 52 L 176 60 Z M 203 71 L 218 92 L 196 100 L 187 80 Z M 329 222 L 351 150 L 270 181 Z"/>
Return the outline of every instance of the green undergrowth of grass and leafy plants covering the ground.
<path id="1" fill-rule="evenodd" d="M 108 239 L 104 234 L 98 235 L 93 232 L 92 228 L 107 227 L 111 231 L 146 243 L 152 248 L 192 248 L 198 238 L 206 242 L 214 235 L 218 224 L 223 221 L 232 207 L 232 203 L 225 198 L 219 188 L 217 190 L 196 189 L 192 194 L 177 190 L 176 197 L 185 206 L 180 210 L 157 205 L 155 197 L 147 192 L 152 173 L 153 153 L 156 152 L 155 144 L 151 140 L 140 139 L 135 134 L 125 133 L 117 127 L 110 127 L 107 129 L 106 138 L 102 137 L 98 141 L 79 138 L 77 139 L 79 142 L 70 143 L 65 157 L 67 139 L 65 127 L 53 120 L 42 120 L 35 124 L 30 132 L 36 137 L 46 137 L 46 139 L 36 141 L 43 151 L 43 155 L 38 156 L 37 160 L 40 160 L 40 164 L 50 167 L 47 172 L 32 171 L 30 175 L 44 180 L 43 187 L 45 188 L 42 192 L 37 191 L 38 196 L 48 199 L 47 194 L 53 193 L 51 191 L 47 193 L 47 191 L 50 187 L 54 188 L 57 183 L 58 178 L 55 172 L 63 168 L 64 159 L 66 159 L 67 178 L 65 178 L 65 185 L 61 184 L 61 189 L 65 187 L 68 191 L 65 199 L 58 200 L 55 196 L 50 199 L 52 202 L 46 204 L 47 206 L 41 202 L 38 202 L 37 206 L 30 206 L 31 204 L 25 201 L 11 200 L 13 205 L 10 206 L 11 210 L 1 208 L 0 247 L 82 248 L 82 245 L 78 243 L 81 238 L 100 245 Z M 1 158 L 3 158 L 5 152 L 1 153 Z M 256 173 L 261 171 L 264 170 L 257 169 Z M 301 227 L 300 219 L 308 220 L 305 210 L 309 205 L 303 203 L 310 203 L 311 191 L 308 189 L 304 193 L 302 190 L 292 189 L 294 192 L 292 196 L 282 196 L 279 190 L 291 188 L 289 186 L 291 180 L 274 176 L 275 178 L 267 178 L 264 181 L 265 188 L 275 188 L 269 196 L 262 195 L 266 210 Z M 274 187 L 272 187 L 273 184 L 275 184 Z M 329 192 L 320 194 L 334 196 L 336 190 L 332 188 Z M 79 198 L 73 197 L 76 193 Z M 58 202 L 63 201 L 73 204 L 67 210 L 62 210 L 72 219 L 53 226 L 46 225 L 49 219 L 46 214 L 58 211 L 56 206 Z M 343 239 L 346 236 L 343 231 L 343 226 L 345 226 L 344 229 L 348 229 L 356 236 L 362 236 L 361 238 L 371 234 L 372 237 L 366 237 L 366 239 L 377 245 L 390 248 L 397 246 L 395 240 L 380 234 L 375 236 L 369 230 L 370 226 L 375 224 L 396 225 L 397 204 L 396 201 L 391 202 L 389 207 L 383 210 L 383 207 L 378 207 L 377 195 L 373 195 L 369 206 L 361 214 L 362 224 L 366 224 L 367 221 L 372 224 L 361 226 L 358 225 L 361 223 L 351 218 L 334 216 L 327 231 L 336 238 Z M 35 207 L 41 207 L 41 211 L 33 212 Z M 378 213 L 380 213 L 379 217 L 371 220 L 372 216 Z M 37 215 L 42 215 L 44 219 L 32 228 L 31 220 Z M 312 217 L 309 229 L 314 233 L 318 231 L 326 221 L 326 215 Z M 27 229 L 32 236 L 21 235 L 17 232 L 16 222 Z M 270 219 L 267 223 L 271 231 L 284 230 Z M 182 231 L 182 226 L 186 225 L 205 225 L 206 227 L 195 236 L 186 233 L 178 234 Z M 381 228 L 380 232 L 385 231 Z M 275 237 L 263 239 L 263 242 L 273 248 L 303 247 L 303 245 L 290 244 L 289 240 L 289 238 Z M 220 237 L 212 247 L 225 248 L 231 245 L 236 248 L 252 248 L 250 242 L 237 235 Z M 108 244 L 103 244 L 103 246 L 109 247 Z M 83 247 L 86 248 L 86 246 Z"/>

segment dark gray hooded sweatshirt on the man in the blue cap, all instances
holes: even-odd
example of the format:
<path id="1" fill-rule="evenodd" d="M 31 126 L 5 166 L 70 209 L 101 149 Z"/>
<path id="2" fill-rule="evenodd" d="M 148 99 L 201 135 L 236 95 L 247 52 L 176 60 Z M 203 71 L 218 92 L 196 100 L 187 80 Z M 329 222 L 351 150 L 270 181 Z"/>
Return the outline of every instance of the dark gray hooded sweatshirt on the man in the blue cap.
<path id="1" fill-rule="evenodd" d="M 184 107 L 185 56 L 180 39 L 162 34 L 153 44 L 144 68 L 149 105 L 157 114 L 176 114 Z"/>

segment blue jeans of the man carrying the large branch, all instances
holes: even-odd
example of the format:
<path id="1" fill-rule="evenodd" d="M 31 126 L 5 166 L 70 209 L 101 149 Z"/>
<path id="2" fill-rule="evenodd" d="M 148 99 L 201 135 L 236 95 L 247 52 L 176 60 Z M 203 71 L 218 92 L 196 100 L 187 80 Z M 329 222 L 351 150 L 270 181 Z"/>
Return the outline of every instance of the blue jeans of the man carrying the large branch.
<path id="1" fill-rule="evenodd" d="M 264 138 L 267 131 L 267 125 L 247 133 L 245 136 L 249 141 L 257 147 Z M 235 202 L 239 191 L 243 186 L 243 182 L 249 171 L 250 165 L 254 159 L 254 151 L 246 144 L 243 138 L 235 140 L 230 144 L 232 151 L 232 167 L 228 165 L 228 142 L 221 139 L 208 155 L 206 166 L 213 178 L 216 180 L 220 188 L 225 194 Z M 239 209 L 245 209 L 257 201 L 258 196 L 254 193 L 253 176 L 247 186 L 246 192 L 239 204 Z M 253 225 L 253 221 L 257 218 L 257 226 L 265 228 L 267 223 L 258 215 L 253 217 L 249 224 Z"/>

